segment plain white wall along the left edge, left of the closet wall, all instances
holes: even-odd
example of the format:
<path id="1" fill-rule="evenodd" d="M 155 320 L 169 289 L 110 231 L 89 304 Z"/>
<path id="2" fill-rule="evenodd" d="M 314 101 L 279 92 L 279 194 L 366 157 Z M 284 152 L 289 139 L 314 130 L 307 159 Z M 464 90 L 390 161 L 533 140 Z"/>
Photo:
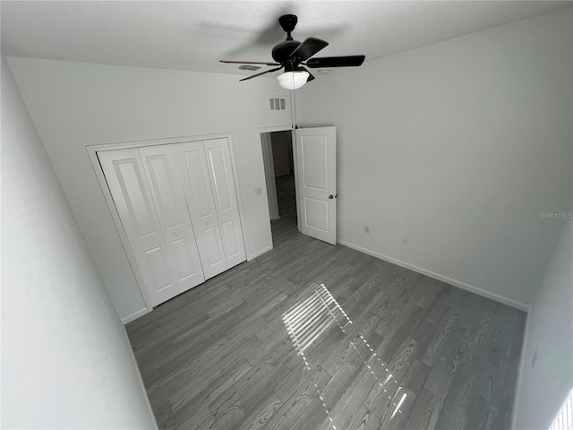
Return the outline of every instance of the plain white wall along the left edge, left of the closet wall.
<path id="1" fill-rule="evenodd" d="M 157 428 L 124 326 L 2 58 L 2 428 Z"/>

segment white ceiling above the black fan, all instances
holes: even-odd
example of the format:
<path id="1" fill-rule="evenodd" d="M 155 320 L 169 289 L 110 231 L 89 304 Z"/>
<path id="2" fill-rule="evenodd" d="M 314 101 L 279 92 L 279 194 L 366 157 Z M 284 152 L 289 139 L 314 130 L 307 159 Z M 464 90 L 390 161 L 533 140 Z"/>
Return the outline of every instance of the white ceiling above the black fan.
<path id="1" fill-rule="evenodd" d="M 249 74 L 219 59 L 271 61 L 295 13 L 317 56 L 366 61 L 565 7 L 552 1 L 16 1 L 2 2 L 2 55 Z M 264 70 L 264 69 L 263 69 Z M 252 72 L 251 72 L 252 73 Z"/>

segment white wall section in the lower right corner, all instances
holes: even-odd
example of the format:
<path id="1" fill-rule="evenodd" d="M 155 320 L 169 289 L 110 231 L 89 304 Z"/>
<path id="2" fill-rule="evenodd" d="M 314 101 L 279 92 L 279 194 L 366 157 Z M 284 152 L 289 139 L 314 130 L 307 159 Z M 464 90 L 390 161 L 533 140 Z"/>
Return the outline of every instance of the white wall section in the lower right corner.
<path id="1" fill-rule="evenodd" d="M 563 220 L 552 220 L 562 224 Z M 573 389 L 573 221 L 563 229 L 529 314 L 517 383 L 515 430 L 547 429 Z M 532 362 L 537 352 L 535 366 Z"/>

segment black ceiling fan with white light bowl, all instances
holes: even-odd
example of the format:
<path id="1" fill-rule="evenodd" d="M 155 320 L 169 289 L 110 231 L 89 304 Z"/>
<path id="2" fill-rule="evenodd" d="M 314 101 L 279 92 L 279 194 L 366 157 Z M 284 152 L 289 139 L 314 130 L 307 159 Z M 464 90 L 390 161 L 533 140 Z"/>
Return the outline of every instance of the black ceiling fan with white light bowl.
<path id="1" fill-rule="evenodd" d="M 353 67 L 363 64 L 365 56 L 323 56 L 321 58 L 311 58 L 317 52 L 329 45 L 329 42 L 316 38 L 304 39 L 304 42 L 294 40 L 291 32 L 295 30 L 298 18 L 295 15 L 283 15 L 278 19 L 278 23 L 286 31 L 286 40 L 280 42 L 272 48 L 272 58 L 274 63 L 258 61 L 229 61 L 220 60 L 221 63 L 227 64 L 261 64 L 261 65 L 278 65 L 274 69 L 265 72 L 253 74 L 241 81 L 247 81 L 263 74 L 277 72 L 285 69 L 284 73 L 277 76 L 278 84 L 286 90 L 296 90 L 302 87 L 306 82 L 314 79 L 306 67 L 311 69 L 326 67 Z"/>

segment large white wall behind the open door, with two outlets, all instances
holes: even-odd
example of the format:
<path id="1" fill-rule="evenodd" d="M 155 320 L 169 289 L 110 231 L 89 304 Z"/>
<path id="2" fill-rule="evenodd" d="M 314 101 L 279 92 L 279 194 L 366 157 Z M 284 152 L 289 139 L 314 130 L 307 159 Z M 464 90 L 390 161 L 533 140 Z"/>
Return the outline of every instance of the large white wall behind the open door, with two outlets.
<path id="1" fill-rule="evenodd" d="M 573 194 L 571 11 L 304 86 L 299 125 L 338 127 L 338 238 L 531 305 L 559 235 L 539 212 L 565 211 Z"/>

